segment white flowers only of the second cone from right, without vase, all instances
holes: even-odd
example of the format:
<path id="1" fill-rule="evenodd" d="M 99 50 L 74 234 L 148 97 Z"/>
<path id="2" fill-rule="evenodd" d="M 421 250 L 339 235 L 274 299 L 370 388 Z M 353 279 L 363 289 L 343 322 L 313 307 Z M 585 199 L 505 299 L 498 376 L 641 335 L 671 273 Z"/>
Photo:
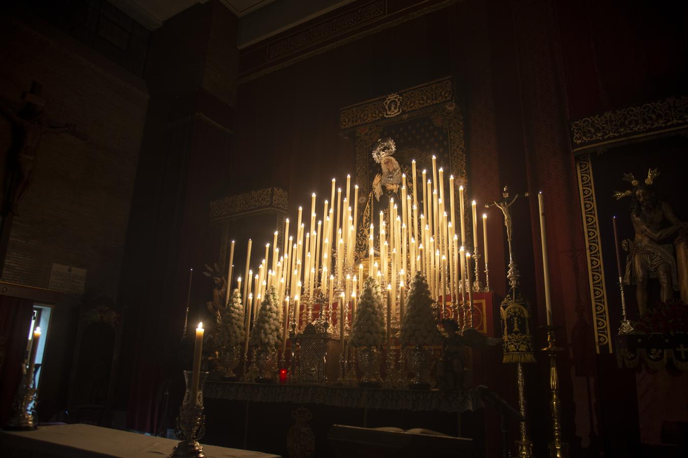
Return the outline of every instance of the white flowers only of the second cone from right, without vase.
<path id="1" fill-rule="evenodd" d="M 380 283 L 370 276 L 363 283 L 351 330 L 354 347 L 382 347 L 385 342 L 385 312 Z"/>

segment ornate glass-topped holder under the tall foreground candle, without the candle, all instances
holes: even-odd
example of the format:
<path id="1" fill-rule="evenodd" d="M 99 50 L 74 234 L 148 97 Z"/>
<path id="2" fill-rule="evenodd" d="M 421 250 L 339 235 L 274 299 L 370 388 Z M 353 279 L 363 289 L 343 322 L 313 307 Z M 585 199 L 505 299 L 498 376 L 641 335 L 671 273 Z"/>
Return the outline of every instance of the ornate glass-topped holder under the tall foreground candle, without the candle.
<path id="1" fill-rule="evenodd" d="M 180 440 L 172 451 L 171 458 L 203 458 L 203 446 L 198 443 L 206 433 L 206 417 L 203 414 L 203 384 L 208 372 L 201 372 L 198 378 L 198 391 L 191 393 L 192 371 L 184 371 L 186 392 L 177 416 L 175 434 Z"/>

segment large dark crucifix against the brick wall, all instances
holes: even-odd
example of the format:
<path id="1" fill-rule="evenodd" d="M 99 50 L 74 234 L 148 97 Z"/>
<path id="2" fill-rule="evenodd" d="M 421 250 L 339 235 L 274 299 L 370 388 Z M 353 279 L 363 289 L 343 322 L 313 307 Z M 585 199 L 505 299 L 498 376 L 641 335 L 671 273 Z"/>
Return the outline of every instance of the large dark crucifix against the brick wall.
<path id="1" fill-rule="evenodd" d="M 0 208 L 0 270 L 5 261 L 12 219 L 18 215 L 19 203 L 31 186 L 43 135 L 57 135 L 74 129 L 74 124 L 55 124 L 45 116 L 45 99 L 41 97 L 39 83 L 32 82 L 30 91 L 24 92 L 21 98 L 24 105 L 17 110 L 0 103 L 0 113 L 12 129 L 12 140 L 6 151 L 7 168 Z"/>

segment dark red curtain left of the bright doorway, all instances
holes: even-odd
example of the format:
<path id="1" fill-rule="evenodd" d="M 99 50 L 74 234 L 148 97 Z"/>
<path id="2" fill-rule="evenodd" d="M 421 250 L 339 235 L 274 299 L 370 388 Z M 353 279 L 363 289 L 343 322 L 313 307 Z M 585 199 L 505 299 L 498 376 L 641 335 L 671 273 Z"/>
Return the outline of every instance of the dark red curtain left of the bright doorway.
<path id="1" fill-rule="evenodd" d="M 0 362 L 0 424 L 5 424 L 12 414 L 21 362 L 26 358 L 32 309 L 31 299 L 0 296 L 0 340 L 4 350 Z"/>

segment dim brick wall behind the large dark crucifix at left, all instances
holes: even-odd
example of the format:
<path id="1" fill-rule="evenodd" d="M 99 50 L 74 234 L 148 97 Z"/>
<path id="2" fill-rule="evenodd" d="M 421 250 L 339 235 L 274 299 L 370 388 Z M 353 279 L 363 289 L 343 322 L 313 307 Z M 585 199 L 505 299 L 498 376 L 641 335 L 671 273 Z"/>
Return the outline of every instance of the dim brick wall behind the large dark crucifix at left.
<path id="1" fill-rule="evenodd" d="M 86 294 L 65 294 L 47 340 L 41 399 L 64 404 L 78 306 L 98 295 L 116 301 L 149 96 L 139 78 L 30 17 L 0 19 L 0 61 L 0 102 L 21 106 L 36 81 L 47 116 L 76 124 L 74 133 L 44 135 L 2 270 L 5 281 L 47 287 L 54 262 L 87 269 Z M 0 117 L 3 157 L 9 135 Z"/>

